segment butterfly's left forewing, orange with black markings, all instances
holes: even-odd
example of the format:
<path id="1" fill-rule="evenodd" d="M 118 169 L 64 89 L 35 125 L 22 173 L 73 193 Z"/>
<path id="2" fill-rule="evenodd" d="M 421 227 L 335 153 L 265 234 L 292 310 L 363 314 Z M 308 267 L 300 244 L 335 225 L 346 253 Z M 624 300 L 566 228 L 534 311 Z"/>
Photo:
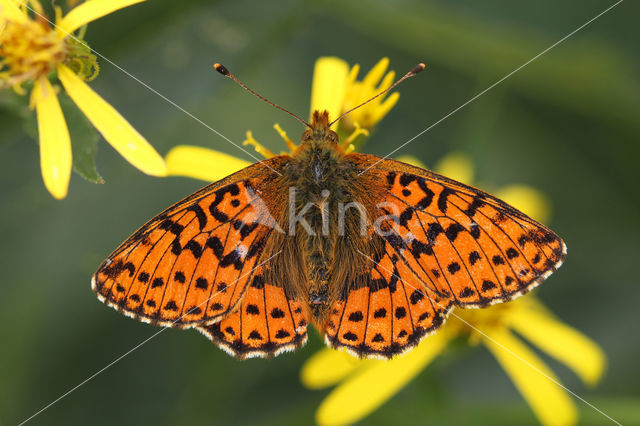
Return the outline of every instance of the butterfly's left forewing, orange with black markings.
<path id="1" fill-rule="evenodd" d="M 150 220 L 98 268 L 92 278 L 98 298 L 128 316 L 174 327 L 233 311 L 274 226 L 274 206 L 257 193 L 269 188 L 283 161 L 249 166 Z"/>

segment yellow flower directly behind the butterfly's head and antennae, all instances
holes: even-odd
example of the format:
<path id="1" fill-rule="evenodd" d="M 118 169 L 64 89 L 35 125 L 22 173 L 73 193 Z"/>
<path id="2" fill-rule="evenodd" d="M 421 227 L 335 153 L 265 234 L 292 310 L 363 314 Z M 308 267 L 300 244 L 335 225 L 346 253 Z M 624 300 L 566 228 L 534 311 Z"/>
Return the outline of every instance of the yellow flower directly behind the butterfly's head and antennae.
<path id="1" fill-rule="evenodd" d="M 313 72 L 311 113 L 315 110 L 327 110 L 329 119 L 335 120 L 343 112 L 387 89 L 393 84 L 395 77 L 393 71 L 386 72 L 388 66 L 389 60 L 381 59 L 364 79 L 359 81 L 358 64 L 349 68 L 347 62 L 340 58 L 319 58 Z M 384 118 L 398 102 L 399 97 L 397 92 L 380 96 L 335 123 L 332 128 L 335 130 L 338 127 L 343 146 L 352 151 L 354 147 L 351 143 L 360 135 L 368 135 L 369 130 Z M 274 127 L 287 143 L 289 150 L 295 149 L 296 144 L 287 137 L 280 126 L 276 124 Z M 267 158 L 273 156 L 270 150 L 253 138 L 251 132 L 247 132 L 244 145 L 253 146 L 259 154 Z M 173 148 L 165 159 L 170 175 L 188 176 L 205 181 L 220 180 L 249 165 L 244 160 L 219 151 L 187 145 Z"/>

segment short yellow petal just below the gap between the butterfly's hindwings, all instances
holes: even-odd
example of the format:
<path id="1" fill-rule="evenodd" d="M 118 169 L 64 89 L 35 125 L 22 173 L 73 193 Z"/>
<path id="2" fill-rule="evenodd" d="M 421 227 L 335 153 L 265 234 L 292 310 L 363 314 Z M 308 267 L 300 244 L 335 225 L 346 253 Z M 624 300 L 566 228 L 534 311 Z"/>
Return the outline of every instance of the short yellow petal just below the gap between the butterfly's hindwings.
<path id="1" fill-rule="evenodd" d="M 371 360 L 360 360 L 343 351 L 324 348 L 305 361 L 300 371 L 302 384 L 309 389 L 322 389 L 335 385 Z"/>

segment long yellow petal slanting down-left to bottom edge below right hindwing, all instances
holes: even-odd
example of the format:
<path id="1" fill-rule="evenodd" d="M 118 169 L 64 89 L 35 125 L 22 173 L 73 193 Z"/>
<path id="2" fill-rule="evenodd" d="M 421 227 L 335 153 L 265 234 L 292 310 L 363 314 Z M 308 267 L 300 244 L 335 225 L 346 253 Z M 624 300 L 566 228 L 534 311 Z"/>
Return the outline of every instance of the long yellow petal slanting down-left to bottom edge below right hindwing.
<path id="1" fill-rule="evenodd" d="M 338 385 L 316 412 L 321 425 L 356 422 L 374 411 L 405 386 L 446 346 L 450 337 L 441 330 L 417 348 L 391 361 L 373 361 Z"/>

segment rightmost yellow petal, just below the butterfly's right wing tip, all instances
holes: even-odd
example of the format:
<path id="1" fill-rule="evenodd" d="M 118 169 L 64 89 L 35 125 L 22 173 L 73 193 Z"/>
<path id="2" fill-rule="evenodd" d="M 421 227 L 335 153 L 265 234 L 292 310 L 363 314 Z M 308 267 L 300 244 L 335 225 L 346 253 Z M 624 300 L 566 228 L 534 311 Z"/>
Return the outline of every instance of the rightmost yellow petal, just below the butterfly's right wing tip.
<path id="1" fill-rule="evenodd" d="M 505 321 L 531 343 L 566 364 L 583 382 L 595 385 L 606 365 L 602 349 L 578 330 L 560 322 L 542 305 L 536 305 L 510 311 Z"/>

